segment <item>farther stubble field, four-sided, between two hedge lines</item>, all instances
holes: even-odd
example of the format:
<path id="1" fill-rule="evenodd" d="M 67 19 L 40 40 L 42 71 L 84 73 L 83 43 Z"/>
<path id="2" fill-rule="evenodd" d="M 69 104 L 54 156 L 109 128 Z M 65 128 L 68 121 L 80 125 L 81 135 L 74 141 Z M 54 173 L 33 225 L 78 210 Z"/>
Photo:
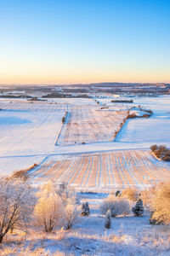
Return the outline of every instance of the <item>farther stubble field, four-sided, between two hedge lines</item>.
<path id="1" fill-rule="evenodd" d="M 92 106 L 74 106 L 59 137 L 59 145 L 112 141 L 127 111 L 100 111 Z"/>

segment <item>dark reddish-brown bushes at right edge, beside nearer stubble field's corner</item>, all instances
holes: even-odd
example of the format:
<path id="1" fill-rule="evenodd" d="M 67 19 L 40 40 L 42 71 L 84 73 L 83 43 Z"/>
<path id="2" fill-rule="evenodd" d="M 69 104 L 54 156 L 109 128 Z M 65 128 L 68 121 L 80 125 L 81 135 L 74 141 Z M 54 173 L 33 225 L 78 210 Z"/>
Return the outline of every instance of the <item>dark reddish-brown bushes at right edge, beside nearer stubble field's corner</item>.
<path id="1" fill-rule="evenodd" d="M 160 158 L 163 161 L 170 161 L 170 149 L 167 148 L 165 145 L 152 145 L 150 149 L 157 158 Z"/>

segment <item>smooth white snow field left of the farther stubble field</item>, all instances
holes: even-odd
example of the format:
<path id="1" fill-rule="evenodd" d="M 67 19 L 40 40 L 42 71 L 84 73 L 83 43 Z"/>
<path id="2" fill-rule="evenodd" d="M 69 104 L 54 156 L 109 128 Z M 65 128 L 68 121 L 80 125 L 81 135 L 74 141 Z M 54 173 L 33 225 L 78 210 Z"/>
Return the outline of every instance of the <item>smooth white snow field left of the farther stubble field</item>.
<path id="1" fill-rule="evenodd" d="M 61 129 L 65 106 L 3 101 L 0 108 L 0 168 L 5 175 L 26 169 L 48 154 Z"/>

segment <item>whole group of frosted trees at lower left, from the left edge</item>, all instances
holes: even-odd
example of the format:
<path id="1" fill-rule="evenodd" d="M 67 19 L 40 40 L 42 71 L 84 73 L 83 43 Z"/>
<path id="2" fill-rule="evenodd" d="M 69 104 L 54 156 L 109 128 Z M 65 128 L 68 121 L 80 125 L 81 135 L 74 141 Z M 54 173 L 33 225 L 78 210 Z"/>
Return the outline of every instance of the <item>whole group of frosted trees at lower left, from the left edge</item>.
<path id="1" fill-rule="evenodd" d="M 0 243 L 8 231 L 25 230 L 36 224 L 45 232 L 54 228 L 71 229 L 80 213 L 76 194 L 66 185 L 46 183 L 35 194 L 28 181 L 16 177 L 0 178 Z"/>

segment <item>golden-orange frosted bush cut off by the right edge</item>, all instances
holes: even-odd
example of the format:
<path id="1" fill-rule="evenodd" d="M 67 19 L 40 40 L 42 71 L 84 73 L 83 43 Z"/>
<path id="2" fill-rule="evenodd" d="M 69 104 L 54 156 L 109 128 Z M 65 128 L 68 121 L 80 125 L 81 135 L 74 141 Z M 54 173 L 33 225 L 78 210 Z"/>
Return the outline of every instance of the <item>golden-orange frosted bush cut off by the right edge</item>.
<path id="1" fill-rule="evenodd" d="M 156 224 L 170 224 L 170 182 L 156 185 L 150 200 L 151 220 Z"/>

